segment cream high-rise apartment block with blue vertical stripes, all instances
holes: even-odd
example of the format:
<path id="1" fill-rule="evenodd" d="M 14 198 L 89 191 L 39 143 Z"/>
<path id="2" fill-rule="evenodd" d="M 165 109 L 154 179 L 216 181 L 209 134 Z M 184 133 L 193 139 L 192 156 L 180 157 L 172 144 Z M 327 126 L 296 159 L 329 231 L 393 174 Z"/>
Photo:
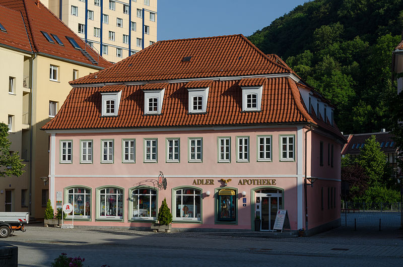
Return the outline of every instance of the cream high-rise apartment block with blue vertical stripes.
<path id="1" fill-rule="evenodd" d="M 43 2 L 110 62 L 118 62 L 157 41 L 157 0 Z"/>

